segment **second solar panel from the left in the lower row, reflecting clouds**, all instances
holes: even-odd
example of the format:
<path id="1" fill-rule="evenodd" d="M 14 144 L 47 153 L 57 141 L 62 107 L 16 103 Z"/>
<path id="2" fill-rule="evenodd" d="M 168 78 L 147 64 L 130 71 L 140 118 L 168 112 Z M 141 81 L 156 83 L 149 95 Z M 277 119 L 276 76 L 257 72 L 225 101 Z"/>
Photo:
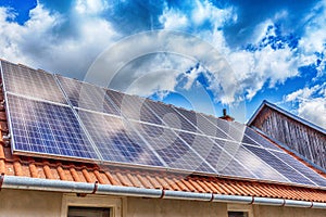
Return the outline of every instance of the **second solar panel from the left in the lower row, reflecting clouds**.
<path id="1" fill-rule="evenodd" d="M 163 165 L 122 118 L 82 110 L 78 110 L 78 115 L 102 154 L 103 161 L 148 166 Z"/>

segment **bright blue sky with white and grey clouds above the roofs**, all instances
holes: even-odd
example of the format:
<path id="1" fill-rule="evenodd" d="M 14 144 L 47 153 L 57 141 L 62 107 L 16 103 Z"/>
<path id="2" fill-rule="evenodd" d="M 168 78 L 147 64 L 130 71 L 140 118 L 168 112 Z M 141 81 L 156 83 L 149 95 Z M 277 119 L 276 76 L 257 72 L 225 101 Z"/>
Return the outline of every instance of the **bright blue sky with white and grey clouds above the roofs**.
<path id="1" fill-rule="evenodd" d="M 326 128 L 325 26 L 325 0 L 2 0 L 0 58 L 88 80 L 108 51 L 121 67 L 104 86 L 216 116 L 227 107 L 241 123 L 268 100 Z M 146 52 L 151 30 L 181 33 L 158 37 L 179 52 Z M 100 66 L 98 80 L 111 67 Z"/>

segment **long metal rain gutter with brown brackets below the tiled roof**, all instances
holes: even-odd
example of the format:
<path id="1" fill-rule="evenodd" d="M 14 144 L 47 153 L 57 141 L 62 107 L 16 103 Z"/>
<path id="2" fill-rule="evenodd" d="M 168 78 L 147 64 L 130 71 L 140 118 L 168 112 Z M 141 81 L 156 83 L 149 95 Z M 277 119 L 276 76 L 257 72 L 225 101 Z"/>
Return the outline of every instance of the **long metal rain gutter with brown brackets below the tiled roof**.
<path id="1" fill-rule="evenodd" d="M 326 209 L 326 203 L 308 202 L 308 201 L 269 199 L 269 197 L 259 197 L 259 196 L 224 195 L 224 194 L 212 194 L 212 193 L 196 193 L 196 192 L 171 191 L 171 190 L 161 190 L 161 189 L 142 189 L 136 187 L 118 187 L 118 186 L 111 186 L 111 184 L 84 183 L 84 182 L 74 182 L 74 181 L 61 181 L 61 180 L 3 176 L 3 175 L 1 175 L 0 178 L 2 179 L 2 189 L 54 191 L 54 192 L 63 192 L 63 193 L 78 193 L 78 194 L 143 196 L 143 197 L 154 197 L 154 199 L 174 199 L 174 200 L 191 200 L 191 201 L 206 201 L 206 202 L 212 201 L 212 202 L 223 202 L 223 203 L 259 204 L 259 205 L 309 207 L 309 208 Z"/>

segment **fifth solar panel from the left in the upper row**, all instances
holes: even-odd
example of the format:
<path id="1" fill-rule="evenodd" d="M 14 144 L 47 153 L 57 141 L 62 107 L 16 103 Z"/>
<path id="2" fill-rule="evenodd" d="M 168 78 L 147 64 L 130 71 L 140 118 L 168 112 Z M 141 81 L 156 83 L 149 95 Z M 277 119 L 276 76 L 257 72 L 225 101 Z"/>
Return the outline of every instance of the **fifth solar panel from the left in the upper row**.
<path id="1" fill-rule="evenodd" d="M 192 125 L 195 125 L 200 130 L 200 132 L 212 137 L 228 139 L 225 132 L 223 132 L 210 120 L 201 116 L 199 113 L 178 108 L 178 107 L 174 107 L 174 108 L 177 112 L 179 112 L 184 117 L 186 117 Z"/>

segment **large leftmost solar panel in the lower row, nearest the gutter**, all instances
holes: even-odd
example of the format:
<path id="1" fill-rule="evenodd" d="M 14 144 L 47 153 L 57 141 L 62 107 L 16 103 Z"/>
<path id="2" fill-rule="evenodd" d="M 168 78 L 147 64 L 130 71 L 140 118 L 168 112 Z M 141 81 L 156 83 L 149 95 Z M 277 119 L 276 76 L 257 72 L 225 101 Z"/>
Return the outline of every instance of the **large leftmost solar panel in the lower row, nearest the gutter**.
<path id="1" fill-rule="evenodd" d="M 7 98 L 14 152 L 99 159 L 68 106 Z"/>

